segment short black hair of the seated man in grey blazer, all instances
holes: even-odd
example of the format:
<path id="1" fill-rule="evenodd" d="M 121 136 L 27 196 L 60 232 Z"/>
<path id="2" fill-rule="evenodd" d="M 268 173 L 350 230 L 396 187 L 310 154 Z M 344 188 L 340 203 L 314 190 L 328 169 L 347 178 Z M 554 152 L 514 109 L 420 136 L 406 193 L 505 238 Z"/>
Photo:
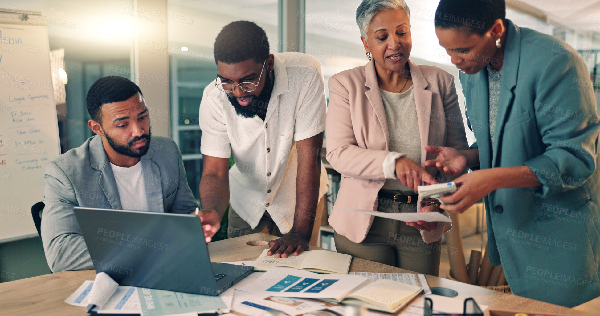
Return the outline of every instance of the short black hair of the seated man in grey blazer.
<path id="1" fill-rule="evenodd" d="M 137 93 L 144 96 L 140 87 L 125 77 L 102 77 L 89 87 L 88 96 L 85 98 L 89 116 L 102 125 L 103 104 L 125 101 Z"/>

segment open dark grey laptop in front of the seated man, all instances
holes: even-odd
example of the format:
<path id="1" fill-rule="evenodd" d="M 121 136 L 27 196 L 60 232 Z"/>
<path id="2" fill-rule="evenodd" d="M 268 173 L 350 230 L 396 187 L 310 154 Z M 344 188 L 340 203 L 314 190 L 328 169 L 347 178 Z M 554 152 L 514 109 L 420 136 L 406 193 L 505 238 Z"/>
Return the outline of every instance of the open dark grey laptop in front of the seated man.
<path id="1" fill-rule="evenodd" d="M 253 267 L 211 263 L 196 215 L 74 207 L 96 273 L 118 284 L 217 296 Z"/>

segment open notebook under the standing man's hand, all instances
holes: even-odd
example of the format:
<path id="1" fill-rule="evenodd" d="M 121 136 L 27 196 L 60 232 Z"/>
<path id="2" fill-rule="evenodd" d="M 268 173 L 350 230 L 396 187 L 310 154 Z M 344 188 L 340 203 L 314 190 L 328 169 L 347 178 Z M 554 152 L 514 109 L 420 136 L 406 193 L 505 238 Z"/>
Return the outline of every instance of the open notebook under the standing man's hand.
<path id="1" fill-rule="evenodd" d="M 293 267 L 311 272 L 346 274 L 352 261 L 351 255 L 328 250 L 303 251 L 297 256 L 278 259 L 266 255 L 268 251 L 269 249 L 265 249 L 254 261 L 255 271 L 266 271 L 271 267 Z"/>

